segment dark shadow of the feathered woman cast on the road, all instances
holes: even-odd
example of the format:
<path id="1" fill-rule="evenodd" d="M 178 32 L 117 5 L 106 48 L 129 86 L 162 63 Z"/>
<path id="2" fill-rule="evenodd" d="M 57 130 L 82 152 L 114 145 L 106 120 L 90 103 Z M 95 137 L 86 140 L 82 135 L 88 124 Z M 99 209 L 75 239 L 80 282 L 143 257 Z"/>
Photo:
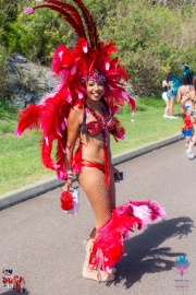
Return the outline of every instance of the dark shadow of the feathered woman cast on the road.
<path id="1" fill-rule="evenodd" d="M 194 222 L 184 216 L 150 225 L 143 234 L 131 238 L 125 243 L 125 255 L 117 264 L 118 274 L 112 284 L 123 281 L 125 288 L 130 288 L 145 273 L 170 271 L 176 257 L 185 253 L 159 246 L 169 238 L 187 236 L 193 227 Z"/>

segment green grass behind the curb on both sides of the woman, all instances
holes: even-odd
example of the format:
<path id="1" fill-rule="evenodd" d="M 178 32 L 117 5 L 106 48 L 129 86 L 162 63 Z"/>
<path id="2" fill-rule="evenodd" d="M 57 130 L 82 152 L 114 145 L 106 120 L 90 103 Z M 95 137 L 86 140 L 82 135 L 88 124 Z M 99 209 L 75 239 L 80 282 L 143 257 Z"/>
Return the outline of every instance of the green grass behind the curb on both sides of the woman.
<path id="1" fill-rule="evenodd" d="M 137 101 L 135 116 L 128 107 L 123 108 L 118 117 L 126 130 L 125 140 L 115 143 L 111 139 L 112 154 L 179 133 L 183 126 L 179 105 L 174 106 L 177 120 L 164 119 L 162 99 L 147 97 Z M 0 104 L 0 194 L 56 176 L 40 163 L 39 132 L 25 131 L 22 137 L 14 135 L 16 118 L 12 106 Z"/>

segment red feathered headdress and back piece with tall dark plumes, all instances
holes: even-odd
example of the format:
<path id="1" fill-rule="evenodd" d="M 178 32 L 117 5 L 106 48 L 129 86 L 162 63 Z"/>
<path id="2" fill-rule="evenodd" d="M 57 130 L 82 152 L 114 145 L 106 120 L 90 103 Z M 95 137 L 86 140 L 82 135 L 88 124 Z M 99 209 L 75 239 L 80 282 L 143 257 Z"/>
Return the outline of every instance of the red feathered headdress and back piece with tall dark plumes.
<path id="1" fill-rule="evenodd" d="M 41 161 L 48 168 L 56 169 L 60 179 L 66 179 L 64 153 L 70 109 L 85 103 L 87 80 L 102 81 L 105 84 L 105 101 L 111 115 L 118 106 L 127 103 L 135 110 L 134 99 L 125 92 L 127 81 L 125 70 L 119 64 L 118 58 L 111 58 L 117 52 L 113 42 L 99 42 L 96 23 L 82 0 L 73 0 L 76 7 L 62 1 L 41 1 L 44 4 L 27 8 L 25 13 L 37 9 L 51 9 L 60 14 L 73 27 L 79 39 L 73 50 L 60 45 L 53 54 L 52 71 L 59 78 L 52 93 L 47 94 L 39 105 L 27 107 L 20 114 L 16 135 L 26 128 L 42 129 Z M 81 14 L 79 14 L 79 12 Z M 51 158 L 52 143 L 57 141 L 56 162 Z"/>

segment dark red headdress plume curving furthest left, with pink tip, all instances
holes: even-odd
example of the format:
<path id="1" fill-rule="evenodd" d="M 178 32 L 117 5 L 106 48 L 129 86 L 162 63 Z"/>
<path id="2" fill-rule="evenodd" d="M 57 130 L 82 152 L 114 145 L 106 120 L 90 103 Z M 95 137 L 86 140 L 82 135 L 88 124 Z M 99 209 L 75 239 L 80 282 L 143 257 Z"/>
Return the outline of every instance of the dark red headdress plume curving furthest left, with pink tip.
<path id="1" fill-rule="evenodd" d="M 81 24 L 77 24 L 76 21 L 74 20 L 74 17 L 72 15 L 70 15 L 62 8 L 59 8 L 59 7 L 52 5 L 52 4 L 42 4 L 42 5 L 34 7 L 34 10 L 39 9 L 39 8 L 49 8 L 51 10 L 59 12 L 60 14 L 63 15 L 63 19 L 74 28 L 74 31 L 78 35 L 78 37 L 86 37 L 85 31 L 83 28 L 81 28 Z M 84 34 L 85 34 L 85 36 L 84 36 Z"/>

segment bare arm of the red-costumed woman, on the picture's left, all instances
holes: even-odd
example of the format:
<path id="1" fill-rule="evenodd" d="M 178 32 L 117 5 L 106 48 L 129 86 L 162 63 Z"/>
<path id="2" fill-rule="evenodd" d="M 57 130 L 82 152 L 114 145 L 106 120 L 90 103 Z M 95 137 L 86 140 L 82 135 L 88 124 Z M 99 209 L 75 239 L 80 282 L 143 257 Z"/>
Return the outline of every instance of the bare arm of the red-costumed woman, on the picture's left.
<path id="1" fill-rule="evenodd" d="M 69 187 L 72 186 L 71 161 L 73 156 L 75 142 L 79 133 L 79 125 L 82 123 L 82 120 L 83 120 L 83 110 L 77 107 L 72 108 L 68 118 L 66 146 L 65 146 L 65 157 L 64 157 L 66 173 L 69 174 L 69 178 L 65 185 L 62 187 L 63 191 L 68 190 Z"/>

